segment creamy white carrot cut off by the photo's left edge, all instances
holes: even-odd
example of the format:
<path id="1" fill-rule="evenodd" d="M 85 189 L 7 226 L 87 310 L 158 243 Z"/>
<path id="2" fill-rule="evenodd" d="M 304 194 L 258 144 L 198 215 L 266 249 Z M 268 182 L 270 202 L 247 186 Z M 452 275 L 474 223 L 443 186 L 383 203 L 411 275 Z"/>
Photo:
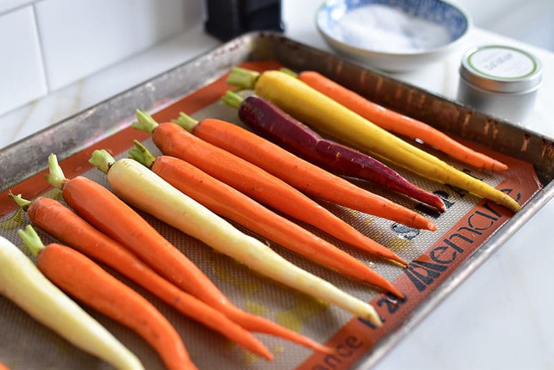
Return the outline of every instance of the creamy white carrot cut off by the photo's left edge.
<path id="1" fill-rule="evenodd" d="M 78 348 L 116 369 L 144 369 L 136 356 L 62 290 L 17 246 L 0 237 L 0 294 Z"/>

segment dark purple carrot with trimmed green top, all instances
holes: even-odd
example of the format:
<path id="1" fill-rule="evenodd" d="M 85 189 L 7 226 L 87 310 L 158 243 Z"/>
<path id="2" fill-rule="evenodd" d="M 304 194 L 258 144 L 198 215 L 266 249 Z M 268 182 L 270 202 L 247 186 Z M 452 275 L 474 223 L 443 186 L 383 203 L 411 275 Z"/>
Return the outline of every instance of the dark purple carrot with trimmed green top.
<path id="1" fill-rule="evenodd" d="M 322 138 L 268 100 L 256 95 L 242 99 L 233 91 L 227 91 L 222 100 L 231 107 L 238 108 L 240 120 L 253 131 L 310 163 L 334 174 L 373 181 L 438 210 L 445 210 L 445 203 L 435 194 L 413 185 L 375 158 Z M 181 120 L 184 118 L 179 118 Z"/>

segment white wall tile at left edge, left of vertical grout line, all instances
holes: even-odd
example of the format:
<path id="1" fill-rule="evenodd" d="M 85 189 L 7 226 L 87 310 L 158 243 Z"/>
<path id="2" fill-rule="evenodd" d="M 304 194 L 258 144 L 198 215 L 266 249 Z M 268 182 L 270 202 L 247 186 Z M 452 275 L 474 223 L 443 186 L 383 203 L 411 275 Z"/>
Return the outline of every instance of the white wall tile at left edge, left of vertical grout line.
<path id="1" fill-rule="evenodd" d="M 46 94 L 33 7 L 0 17 L 0 114 Z"/>

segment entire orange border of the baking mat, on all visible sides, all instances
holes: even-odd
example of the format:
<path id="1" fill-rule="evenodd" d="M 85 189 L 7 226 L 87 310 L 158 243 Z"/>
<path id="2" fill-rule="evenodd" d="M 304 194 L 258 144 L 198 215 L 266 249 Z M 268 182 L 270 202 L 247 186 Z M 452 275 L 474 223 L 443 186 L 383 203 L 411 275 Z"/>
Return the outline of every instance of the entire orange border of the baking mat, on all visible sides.
<path id="1" fill-rule="evenodd" d="M 270 68 L 278 68 L 281 65 L 277 62 L 244 62 L 242 66 L 256 71 L 264 71 Z M 162 109 L 154 115 L 154 119 L 158 122 L 166 122 L 177 117 L 179 111 L 192 114 L 208 106 L 208 104 L 217 102 L 224 91 L 231 89 L 231 86 L 226 85 L 225 79 L 226 76 L 223 76 L 208 86 L 204 86 Z M 145 140 L 148 137 L 150 137 L 148 133 L 127 127 L 113 136 L 80 151 L 80 153 L 66 158 L 60 165 L 62 165 L 66 176 L 72 178 L 91 169 L 88 159 L 93 150 L 107 149 L 112 154 L 119 154 L 129 149 L 129 143 L 133 139 Z M 508 165 L 508 171 L 503 172 L 506 180 L 497 188 L 516 198 L 520 204 L 528 201 L 542 187 L 533 165 L 530 163 L 499 154 L 487 148 L 477 147 L 477 145 L 470 142 L 467 142 L 467 145 L 475 147 L 476 150 L 485 154 L 494 153 L 495 158 Z M 46 163 L 46 158 L 44 160 Z M 15 203 L 6 196 L 8 192 L 25 194 L 25 197 L 29 199 L 46 192 L 50 186 L 44 181 L 44 173 L 46 173 L 46 170 L 3 192 L 0 195 L 0 216 L 6 215 L 17 208 Z M 298 369 L 343 370 L 350 368 L 385 335 L 398 329 L 412 309 L 420 304 L 434 288 L 448 277 L 450 272 L 460 266 L 509 218 L 510 211 L 505 207 L 482 200 L 470 212 L 465 214 L 464 218 L 458 221 L 449 232 L 445 233 L 439 241 L 429 247 L 420 257 L 411 261 L 402 275 L 393 281 L 393 284 L 405 295 L 402 301 L 397 301 L 393 297 L 384 294 L 377 295 L 371 301 L 371 304 L 383 319 L 383 326 L 375 328 L 370 322 L 353 318 L 325 343 L 337 348 L 336 355 L 313 353 Z"/>

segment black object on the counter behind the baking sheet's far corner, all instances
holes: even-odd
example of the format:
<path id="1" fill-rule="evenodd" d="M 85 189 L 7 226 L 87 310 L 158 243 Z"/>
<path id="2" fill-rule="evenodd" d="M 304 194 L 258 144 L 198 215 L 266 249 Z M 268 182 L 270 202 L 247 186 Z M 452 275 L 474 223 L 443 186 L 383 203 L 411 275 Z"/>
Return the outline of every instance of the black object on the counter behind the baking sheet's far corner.
<path id="1" fill-rule="evenodd" d="M 222 41 L 252 30 L 285 30 L 280 0 L 207 0 L 206 5 L 206 31 Z"/>

